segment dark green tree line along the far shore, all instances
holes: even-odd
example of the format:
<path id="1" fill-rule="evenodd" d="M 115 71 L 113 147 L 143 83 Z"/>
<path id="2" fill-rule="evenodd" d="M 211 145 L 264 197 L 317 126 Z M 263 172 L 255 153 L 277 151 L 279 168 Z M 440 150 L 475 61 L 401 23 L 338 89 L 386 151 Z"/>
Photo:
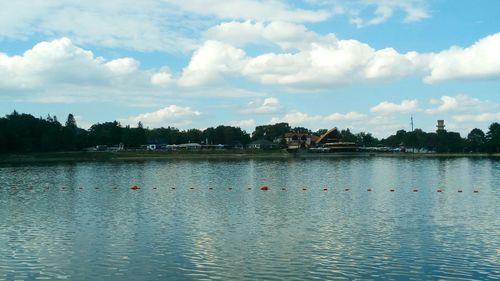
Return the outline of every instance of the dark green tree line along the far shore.
<path id="1" fill-rule="evenodd" d="M 16 111 L 0 118 L 0 152 L 51 152 L 76 151 L 97 145 L 118 145 L 125 148 L 139 148 L 147 143 L 156 144 L 227 144 L 246 145 L 253 140 L 267 139 L 278 141 L 286 147 L 283 136 L 288 132 L 305 133 L 320 136 L 326 129 L 311 131 L 304 127 L 290 127 L 288 123 L 257 126 L 255 131 L 247 133 L 239 127 L 220 125 L 205 130 L 179 130 L 175 127 L 144 128 L 139 122 L 136 128 L 122 126 L 119 122 L 104 122 L 92 125 L 88 130 L 79 128 L 73 114 L 69 114 L 64 125 L 56 116 L 36 118 L 30 114 Z M 353 142 L 361 147 L 405 147 L 444 153 L 500 152 L 500 124 L 492 123 L 485 133 L 475 128 L 466 138 L 457 132 L 445 130 L 424 132 L 415 129 L 407 132 L 399 130 L 387 138 L 377 139 L 370 133 L 352 133 L 349 129 L 340 130 L 340 140 Z"/>

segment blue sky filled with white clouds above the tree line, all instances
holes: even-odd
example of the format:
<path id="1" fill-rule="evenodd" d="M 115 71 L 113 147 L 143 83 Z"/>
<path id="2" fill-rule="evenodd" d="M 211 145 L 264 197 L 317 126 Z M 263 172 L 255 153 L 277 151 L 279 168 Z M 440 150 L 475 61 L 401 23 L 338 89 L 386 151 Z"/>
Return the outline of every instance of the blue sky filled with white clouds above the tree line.
<path id="1" fill-rule="evenodd" d="M 500 1 L 0 0 L 0 116 L 382 138 L 500 122 Z"/>

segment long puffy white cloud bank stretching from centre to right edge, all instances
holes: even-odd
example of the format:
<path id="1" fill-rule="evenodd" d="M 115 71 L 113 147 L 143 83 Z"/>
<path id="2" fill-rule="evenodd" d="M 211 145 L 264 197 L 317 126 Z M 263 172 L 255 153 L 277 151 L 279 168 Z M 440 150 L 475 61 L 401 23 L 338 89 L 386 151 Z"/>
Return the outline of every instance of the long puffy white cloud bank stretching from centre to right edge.
<path id="1" fill-rule="evenodd" d="M 235 29 L 219 33 L 218 38 L 227 42 L 243 43 L 245 32 L 251 30 L 248 38 L 256 39 L 271 26 L 265 24 L 232 23 Z M 292 32 L 293 33 L 293 32 Z M 239 34 L 239 35 L 237 35 Z M 296 34 L 309 34 L 299 30 Z M 241 37 L 238 37 L 240 36 Z M 225 37 L 224 37 L 225 36 Z M 234 37 L 236 36 L 236 37 Z M 217 37 L 217 36 L 215 36 Z M 235 40 L 232 40 L 233 37 Z M 286 36 L 285 36 L 286 37 Z M 283 38 L 285 38 L 283 37 Z M 359 82 L 393 80 L 410 75 L 426 75 L 426 82 L 448 79 L 483 79 L 500 77 L 500 33 L 481 39 L 467 49 L 450 49 L 441 53 L 420 54 L 417 52 L 398 53 L 392 48 L 376 50 L 357 40 L 339 40 L 333 34 L 318 36 L 311 33 L 310 39 L 302 42 L 301 36 L 291 36 L 281 42 L 280 38 L 269 36 L 266 40 L 282 48 L 295 47 L 298 51 L 264 53 L 255 57 L 247 56 L 243 50 L 228 43 L 207 41 L 195 53 L 192 63 L 204 62 L 205 68 L 193 68 L 194 80 L 205 82 L 223 81 L 225 75 L 242 75 L 264 85 L 276 85 L 286 89 L 317 91 L 331 87 L 351 85 Z M 260 37 L 259 37 L 260 38 Z M 243 40 L 243 41 L 242 41 Z M 217 43 L 216 43 L 217 42 Z M 212 56 L 213 61 L 206 58 Z M 229 55 L 228 54 L 235 54 Z M 463 55 L 463 56 L 462 56 Z M 188 70 L 191 68 L 188 66 Z M 198 71 L 197 69 L 203 69 Z M 189 74 L 189 71 L 186 71 Z M 195 83 L 196 84 L 196 83 Z"/>

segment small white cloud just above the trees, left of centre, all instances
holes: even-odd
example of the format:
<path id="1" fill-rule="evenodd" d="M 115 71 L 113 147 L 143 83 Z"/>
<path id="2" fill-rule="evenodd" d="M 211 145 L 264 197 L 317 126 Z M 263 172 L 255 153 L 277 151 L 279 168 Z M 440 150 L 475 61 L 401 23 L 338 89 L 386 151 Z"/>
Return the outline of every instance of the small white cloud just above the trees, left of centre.
<path id="1" fill-rule="evenodd" d="M 144 126 L 151 127 L 186 126 L 201 115 L 201 112 L 193 110 L 189 106 L 170 105 L 157 111 L 120 119 L 120 122 L 128 125 L 137 125 L 142 122 Z"/>

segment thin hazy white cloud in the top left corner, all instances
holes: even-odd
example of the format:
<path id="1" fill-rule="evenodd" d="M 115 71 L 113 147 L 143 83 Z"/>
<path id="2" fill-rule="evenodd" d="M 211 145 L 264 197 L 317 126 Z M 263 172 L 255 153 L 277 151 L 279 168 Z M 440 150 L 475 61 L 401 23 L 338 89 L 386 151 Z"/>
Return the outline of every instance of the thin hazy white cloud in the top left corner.
<path id="1" fill-rule="evenodd" d="M 192 25 L 183 23 L 192 22 Z M 3 1 L 0 38 L 37 33 L 68 36 L 79 44 L 140 51 L 176 51 L 195 44 L 184 33 L 195 20 L 156 0 Z M 208 24 L 208 23 L 207 23 Z"/>

